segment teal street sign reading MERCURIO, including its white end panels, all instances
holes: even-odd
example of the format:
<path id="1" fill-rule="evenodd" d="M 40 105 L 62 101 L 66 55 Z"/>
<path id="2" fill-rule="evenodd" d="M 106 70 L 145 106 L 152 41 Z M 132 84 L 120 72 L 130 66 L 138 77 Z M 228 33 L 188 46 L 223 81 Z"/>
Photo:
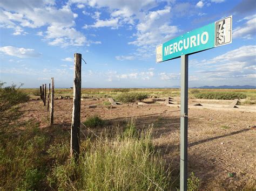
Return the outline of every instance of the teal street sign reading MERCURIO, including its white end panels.
<path id="1" fill-rule="evenodd" d="M 232 43 L 232 16 L 157 46 L 156 61 L 163 62 L 230 43 Z"/>

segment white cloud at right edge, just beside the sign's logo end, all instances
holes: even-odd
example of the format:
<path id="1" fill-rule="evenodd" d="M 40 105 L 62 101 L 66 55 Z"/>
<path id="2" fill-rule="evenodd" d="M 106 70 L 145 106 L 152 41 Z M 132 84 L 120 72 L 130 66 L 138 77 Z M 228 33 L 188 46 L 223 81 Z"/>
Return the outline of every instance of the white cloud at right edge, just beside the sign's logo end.
<path id="1" fill-rule="evenodd" d="M 256 15 L 245 17 L 241 20 L 247 20 L 244 26 L 239 26 L 233 30 L 233 38 L 251 39 L 255 36 L 256 31 Z"/>

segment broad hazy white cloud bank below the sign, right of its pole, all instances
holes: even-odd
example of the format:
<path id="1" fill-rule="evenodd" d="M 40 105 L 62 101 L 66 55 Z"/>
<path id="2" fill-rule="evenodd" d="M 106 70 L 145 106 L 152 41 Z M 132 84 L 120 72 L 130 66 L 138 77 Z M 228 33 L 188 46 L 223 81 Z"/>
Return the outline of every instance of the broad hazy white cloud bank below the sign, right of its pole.
<path id="1" fill-rule="evenodd" d="M 256 73 L 256 46 L 241 46 L 210 60 L 191 60 L 193 81 L 205 84 L 251 84 Z M 239 82 L 238 82 L 239 79 Z"/>

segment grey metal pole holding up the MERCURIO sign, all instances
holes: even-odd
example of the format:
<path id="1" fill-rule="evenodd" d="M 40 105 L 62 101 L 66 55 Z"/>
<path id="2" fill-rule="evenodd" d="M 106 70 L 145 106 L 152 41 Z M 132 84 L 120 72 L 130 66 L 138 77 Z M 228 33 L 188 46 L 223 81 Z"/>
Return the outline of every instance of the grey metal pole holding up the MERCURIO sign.
<path id="1" fill-rule="evenodd" d="M 188 55 L 181 55 L 180 190 L 187 190 Z"/>

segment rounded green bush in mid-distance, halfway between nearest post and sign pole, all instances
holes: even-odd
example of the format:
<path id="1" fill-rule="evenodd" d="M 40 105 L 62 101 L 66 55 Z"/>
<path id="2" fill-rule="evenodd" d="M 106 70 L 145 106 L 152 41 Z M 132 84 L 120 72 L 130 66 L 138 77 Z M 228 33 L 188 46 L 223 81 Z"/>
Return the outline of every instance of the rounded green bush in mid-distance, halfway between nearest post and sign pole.
<path id="1" fill-rule="evenodd" d="M 118 94 L 114 99 L 118 102 L 129 103 L 134 101 L 142 101 L 148 98 L 149 95 L 143 92 L 129 92 Z"/>

